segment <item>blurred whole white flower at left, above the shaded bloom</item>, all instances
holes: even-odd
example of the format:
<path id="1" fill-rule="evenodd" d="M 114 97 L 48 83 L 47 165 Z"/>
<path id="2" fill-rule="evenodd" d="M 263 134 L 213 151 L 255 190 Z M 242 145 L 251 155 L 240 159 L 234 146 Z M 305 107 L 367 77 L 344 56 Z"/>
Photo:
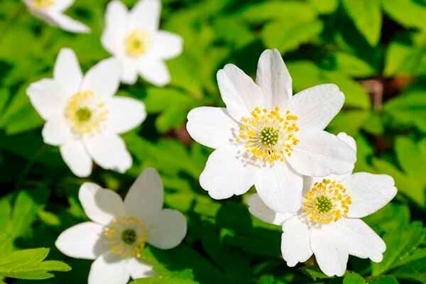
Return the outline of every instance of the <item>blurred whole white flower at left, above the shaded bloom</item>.
<path id="1" fill-rule="evenodd" d="M 65 163 L 79 177 L 92 172 L 92 159 L 102 168 L 124 173 L 131 155 L 118 135 L 146 117 L 143 103 L 114 97 L 119 88 L 119 62 L 103 60 L 82 75 L 75 53 L 62 49 L 53 79 L 30 85 L 27 94 L 45 119 L 43 140 L 60 147 Z"/>

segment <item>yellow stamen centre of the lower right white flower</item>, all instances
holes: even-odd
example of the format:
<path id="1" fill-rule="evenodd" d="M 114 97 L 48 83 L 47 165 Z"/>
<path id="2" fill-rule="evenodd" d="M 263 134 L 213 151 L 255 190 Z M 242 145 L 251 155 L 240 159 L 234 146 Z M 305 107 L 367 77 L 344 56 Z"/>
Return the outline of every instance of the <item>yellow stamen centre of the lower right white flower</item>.
<path id="1" fill-rule="evenodd" d="M 324 178 L 315 182 L 305 195 L 303 207 L 310 221 L 329 224 L 346 217 L 351 203 L 351 197 L 342 184 Z"/>

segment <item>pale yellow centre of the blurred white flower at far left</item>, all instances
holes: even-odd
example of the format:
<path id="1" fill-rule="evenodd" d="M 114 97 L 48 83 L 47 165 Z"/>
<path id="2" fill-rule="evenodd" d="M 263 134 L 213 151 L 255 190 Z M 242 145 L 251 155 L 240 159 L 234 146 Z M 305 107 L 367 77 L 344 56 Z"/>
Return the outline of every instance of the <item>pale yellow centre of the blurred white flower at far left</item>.
<path id="1" fill-rule="evenodd" d="M 74 94 L 65 109 L 72 130 L 79 134 L 99 131 L 108 113 L 102 97 L 90 91 Z"/>

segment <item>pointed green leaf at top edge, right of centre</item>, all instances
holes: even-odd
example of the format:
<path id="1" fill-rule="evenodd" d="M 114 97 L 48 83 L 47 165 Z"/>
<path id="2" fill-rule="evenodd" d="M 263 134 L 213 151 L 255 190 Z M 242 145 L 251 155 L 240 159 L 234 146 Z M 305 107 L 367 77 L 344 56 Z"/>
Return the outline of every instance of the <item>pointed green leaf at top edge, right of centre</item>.
<path id="1" fill-rule="evenodd" d="M 343 0 L 346 12 L 370 45 L 376 45 L 381 33 L 380 0 Z"/>

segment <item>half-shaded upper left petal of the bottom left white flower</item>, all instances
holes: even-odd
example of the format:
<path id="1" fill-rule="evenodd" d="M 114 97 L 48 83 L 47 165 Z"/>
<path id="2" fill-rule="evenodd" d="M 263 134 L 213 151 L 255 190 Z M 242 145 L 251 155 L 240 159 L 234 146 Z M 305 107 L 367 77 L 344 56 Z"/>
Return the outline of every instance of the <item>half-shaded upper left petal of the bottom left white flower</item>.
<path id="1" fill-rule="evenodd" d="M 87 217 L 99 224 L 109 224 L 116 216 L 124 216 L 124 203 L 120 195 L 93 182 L 84 182 L 78 198 Z"/>

